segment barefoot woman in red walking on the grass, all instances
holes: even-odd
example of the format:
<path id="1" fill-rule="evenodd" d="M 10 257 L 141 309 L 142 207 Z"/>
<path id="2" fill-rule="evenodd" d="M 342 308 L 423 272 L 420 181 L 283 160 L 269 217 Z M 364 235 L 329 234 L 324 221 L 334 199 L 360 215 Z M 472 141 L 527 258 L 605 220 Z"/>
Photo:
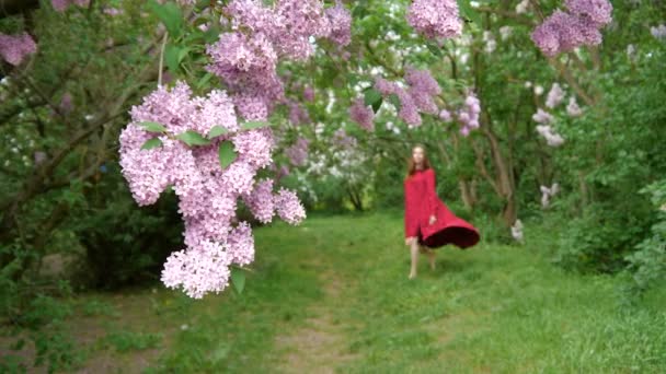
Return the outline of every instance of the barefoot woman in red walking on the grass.
<path id="1" fill-rule="evenodd" d="M 446 244 L 468 248 L 479 242 L 479 231 L 456 217 L 437 197 L 435 172 L 423 145 L 412 149 L 404 180 L 404 233 L 412 253 L 410 279 L 416 277 L 420 250 L 428 255 L 430 268 L 435 269 L 434 248 Z"/>

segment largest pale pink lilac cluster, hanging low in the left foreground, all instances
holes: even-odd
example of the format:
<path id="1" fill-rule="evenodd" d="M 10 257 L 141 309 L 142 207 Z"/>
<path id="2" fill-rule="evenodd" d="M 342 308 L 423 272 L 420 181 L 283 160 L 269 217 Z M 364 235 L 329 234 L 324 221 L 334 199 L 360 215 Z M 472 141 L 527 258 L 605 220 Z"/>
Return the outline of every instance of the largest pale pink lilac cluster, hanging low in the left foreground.
<path id="1" fill-rule="evenodd" d="M 256 172 L 272 164 L 274 139 L 266 128 L 239 131 L 233 101 L 222 91 L 192 97 L 191 87 L 176 82 L 160 86 L 130 110 L 131 122 L 120 133 L 120 167 L 139 206 L 157 201 L 172 186 L 179 196 L 179 213 L 185 222 L 185 246 L 174 252 L 162 271 L 169 288 L 182 288 L 192 297 L 220 292 L 229 283 L 232 265 L 254 259 L 254 239 L 248 223 L 238 222 L 237 200 L 242 198 L 253 214 L 269 222 L 277 212 L 296 224 L 305 210 L 295 194 L 273 194 L 272 180 L 255 184 Z M 165 132 L 148 132 L 142 122 L 158 122 Z M 176 138 L 185 131 L 208 133 L 214 126 L 227 132 L 207 145 L 190 147 Z M 157 137 L 158 148 L 142 149 Z M 222 168 L 219 144 L 231 141 L 237 154 Z"/>

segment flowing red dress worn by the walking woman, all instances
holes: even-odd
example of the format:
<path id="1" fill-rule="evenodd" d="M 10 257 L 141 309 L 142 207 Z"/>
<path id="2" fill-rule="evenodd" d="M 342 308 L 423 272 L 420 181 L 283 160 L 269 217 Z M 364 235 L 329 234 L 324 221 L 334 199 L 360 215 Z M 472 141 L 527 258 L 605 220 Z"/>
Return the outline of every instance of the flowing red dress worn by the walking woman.
<path id="1" fill-rule="evenodd" d="M 429 217 L 437 221 L 429 224 Z M 479 243 L 479 231 L 456 217 L 435 189 L 435 171 L 416 171 L 404 180 L 404 236 L 416 236 L 418 243 L 430 248 L 453 244 L 468 248 Z"/>

